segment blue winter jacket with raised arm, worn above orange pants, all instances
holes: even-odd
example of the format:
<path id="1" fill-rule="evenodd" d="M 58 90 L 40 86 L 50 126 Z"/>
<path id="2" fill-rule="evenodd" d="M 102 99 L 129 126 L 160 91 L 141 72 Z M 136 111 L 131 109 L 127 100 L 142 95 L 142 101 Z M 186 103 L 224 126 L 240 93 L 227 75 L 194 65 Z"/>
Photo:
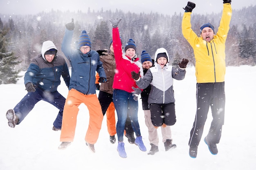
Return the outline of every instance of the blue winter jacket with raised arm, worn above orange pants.
<path id="1" fill-rule="evenodd" d="M 66 29 L 61 44 L 62 52 L 72 66 L 69 90 L 74 88 L 86 95 L 95 94 L 96 71 L 99 73 L 99 77 L 106 78 L 102 62 L 99 59 L 99 54 L 94 50 L 90 50 L 88 53 L 83 54 L 80 49 L 71 49 L 73 32 L 74 31 Z"/>

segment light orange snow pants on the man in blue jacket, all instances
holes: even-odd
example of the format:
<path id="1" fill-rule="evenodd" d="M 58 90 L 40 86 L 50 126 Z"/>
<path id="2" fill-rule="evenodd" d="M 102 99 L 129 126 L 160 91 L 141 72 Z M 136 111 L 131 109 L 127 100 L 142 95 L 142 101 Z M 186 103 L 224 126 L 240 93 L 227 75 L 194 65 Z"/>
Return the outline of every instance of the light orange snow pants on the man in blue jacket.
<path id="1" fill-rule="evenodd" d="M 76 129 L 76 118 L 79 111 L 79 105 L 84 103 L 89 110 L 89 126 L 85 135 L 85 141 L 89 144 L 95 144 L 99 138 L 99 131 L 103 120 L 101 105 L 96 94 L 84 95 L 75 89 L 68 92 L 65 102 L 61 127 L 60 141 L 74 140 Z"/>

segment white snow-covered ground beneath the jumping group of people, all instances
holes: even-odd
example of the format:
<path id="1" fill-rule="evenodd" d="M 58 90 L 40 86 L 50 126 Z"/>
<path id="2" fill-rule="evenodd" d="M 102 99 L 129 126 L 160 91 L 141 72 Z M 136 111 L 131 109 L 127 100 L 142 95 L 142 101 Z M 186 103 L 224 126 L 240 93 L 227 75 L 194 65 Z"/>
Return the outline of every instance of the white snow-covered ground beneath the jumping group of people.
<path id="1" fill-rule="evenodd" d="M 256 167 L 256 66 L 227 67 L 225 78 L 226 115 L 218 155 L 211 155 L 203 138 L 211 122 L 211 110 L 198 147 L 198 157 L 189 157 L 189 133 L 195 116 L 195 69 L 187 68 L 186 77 L 174 82 L 177 123 L 171 127 L 177 148 L 165 152 L 158 130 L 159 152 L 150 150 L 144 113 L 139 101 L 139 124 L 147 152 L 129 144 L 124 137 L 127 158 L 119 157 L 117 142 L 110 144 L 106 116 L 92 153 L 85 145 L 88 110 L 79 106 L 75 139 L 66 150 L 58 150 L 61 132 L 52 130 L 58 110 L 40 101 L 14 129 L 7 125 L 5 113 L 27 93 L 23 77 L 17 84 L 0 85 L 0 170 L 255 170 Z M 22 73 L 23 74 L 23 73 Z M 58 91 L 67 96 L 64 81 Z M 98 92 L 97 92 L 98 93 Z"/>

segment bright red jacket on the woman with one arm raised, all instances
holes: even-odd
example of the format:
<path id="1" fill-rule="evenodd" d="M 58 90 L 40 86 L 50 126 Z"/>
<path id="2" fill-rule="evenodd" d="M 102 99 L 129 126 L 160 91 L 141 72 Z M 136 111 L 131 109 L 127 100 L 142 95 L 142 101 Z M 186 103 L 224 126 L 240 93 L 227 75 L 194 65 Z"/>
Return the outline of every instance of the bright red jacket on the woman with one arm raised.
<path id="1" fill-rule="evenodd" d="M 134 91 L 132 87 L 138 88 L 138 86 L 136 85 L 135 80 L 132 79 L 131 72 L 135 71 L 136 73 L 139 73 L 139 71 L 142 70 L 142 67 L 140 68 L 138 66 L 140 64 L 138 61 L 139 58 L 135 58 L 135 60 L 132 61 L 129 57 L 123 56 L 123 49 L 118 28 L 113 28 L 112 34 L 113 49 L 117 67 L 114 77 L 113 88 L 132 93 L 132 91 Z"/>

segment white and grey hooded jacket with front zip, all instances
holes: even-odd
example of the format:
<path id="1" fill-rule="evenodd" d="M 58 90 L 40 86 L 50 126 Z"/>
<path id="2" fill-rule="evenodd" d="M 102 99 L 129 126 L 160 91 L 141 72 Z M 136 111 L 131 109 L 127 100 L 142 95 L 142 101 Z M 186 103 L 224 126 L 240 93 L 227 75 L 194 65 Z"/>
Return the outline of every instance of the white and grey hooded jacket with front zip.
<path id="1" fill-rule="evenodd" d="M 144 77 L 142 79 L 140 78 L 136 84 L 141 89 L 144 89 L 151 84 L 151 91 L 148 96 L 149 104 L 174 103 L 173 78 L 177 80 L 184 79 L 186 71 L 181 68 L 173 68 L 168 65 L 168 63 L 164 68 L 161 68 L 156 60 L 158 53 L 166 53 L 169 61 L 166 49 L 157 49 L 155 53 L 155 66 L 149 68 Z"/>

